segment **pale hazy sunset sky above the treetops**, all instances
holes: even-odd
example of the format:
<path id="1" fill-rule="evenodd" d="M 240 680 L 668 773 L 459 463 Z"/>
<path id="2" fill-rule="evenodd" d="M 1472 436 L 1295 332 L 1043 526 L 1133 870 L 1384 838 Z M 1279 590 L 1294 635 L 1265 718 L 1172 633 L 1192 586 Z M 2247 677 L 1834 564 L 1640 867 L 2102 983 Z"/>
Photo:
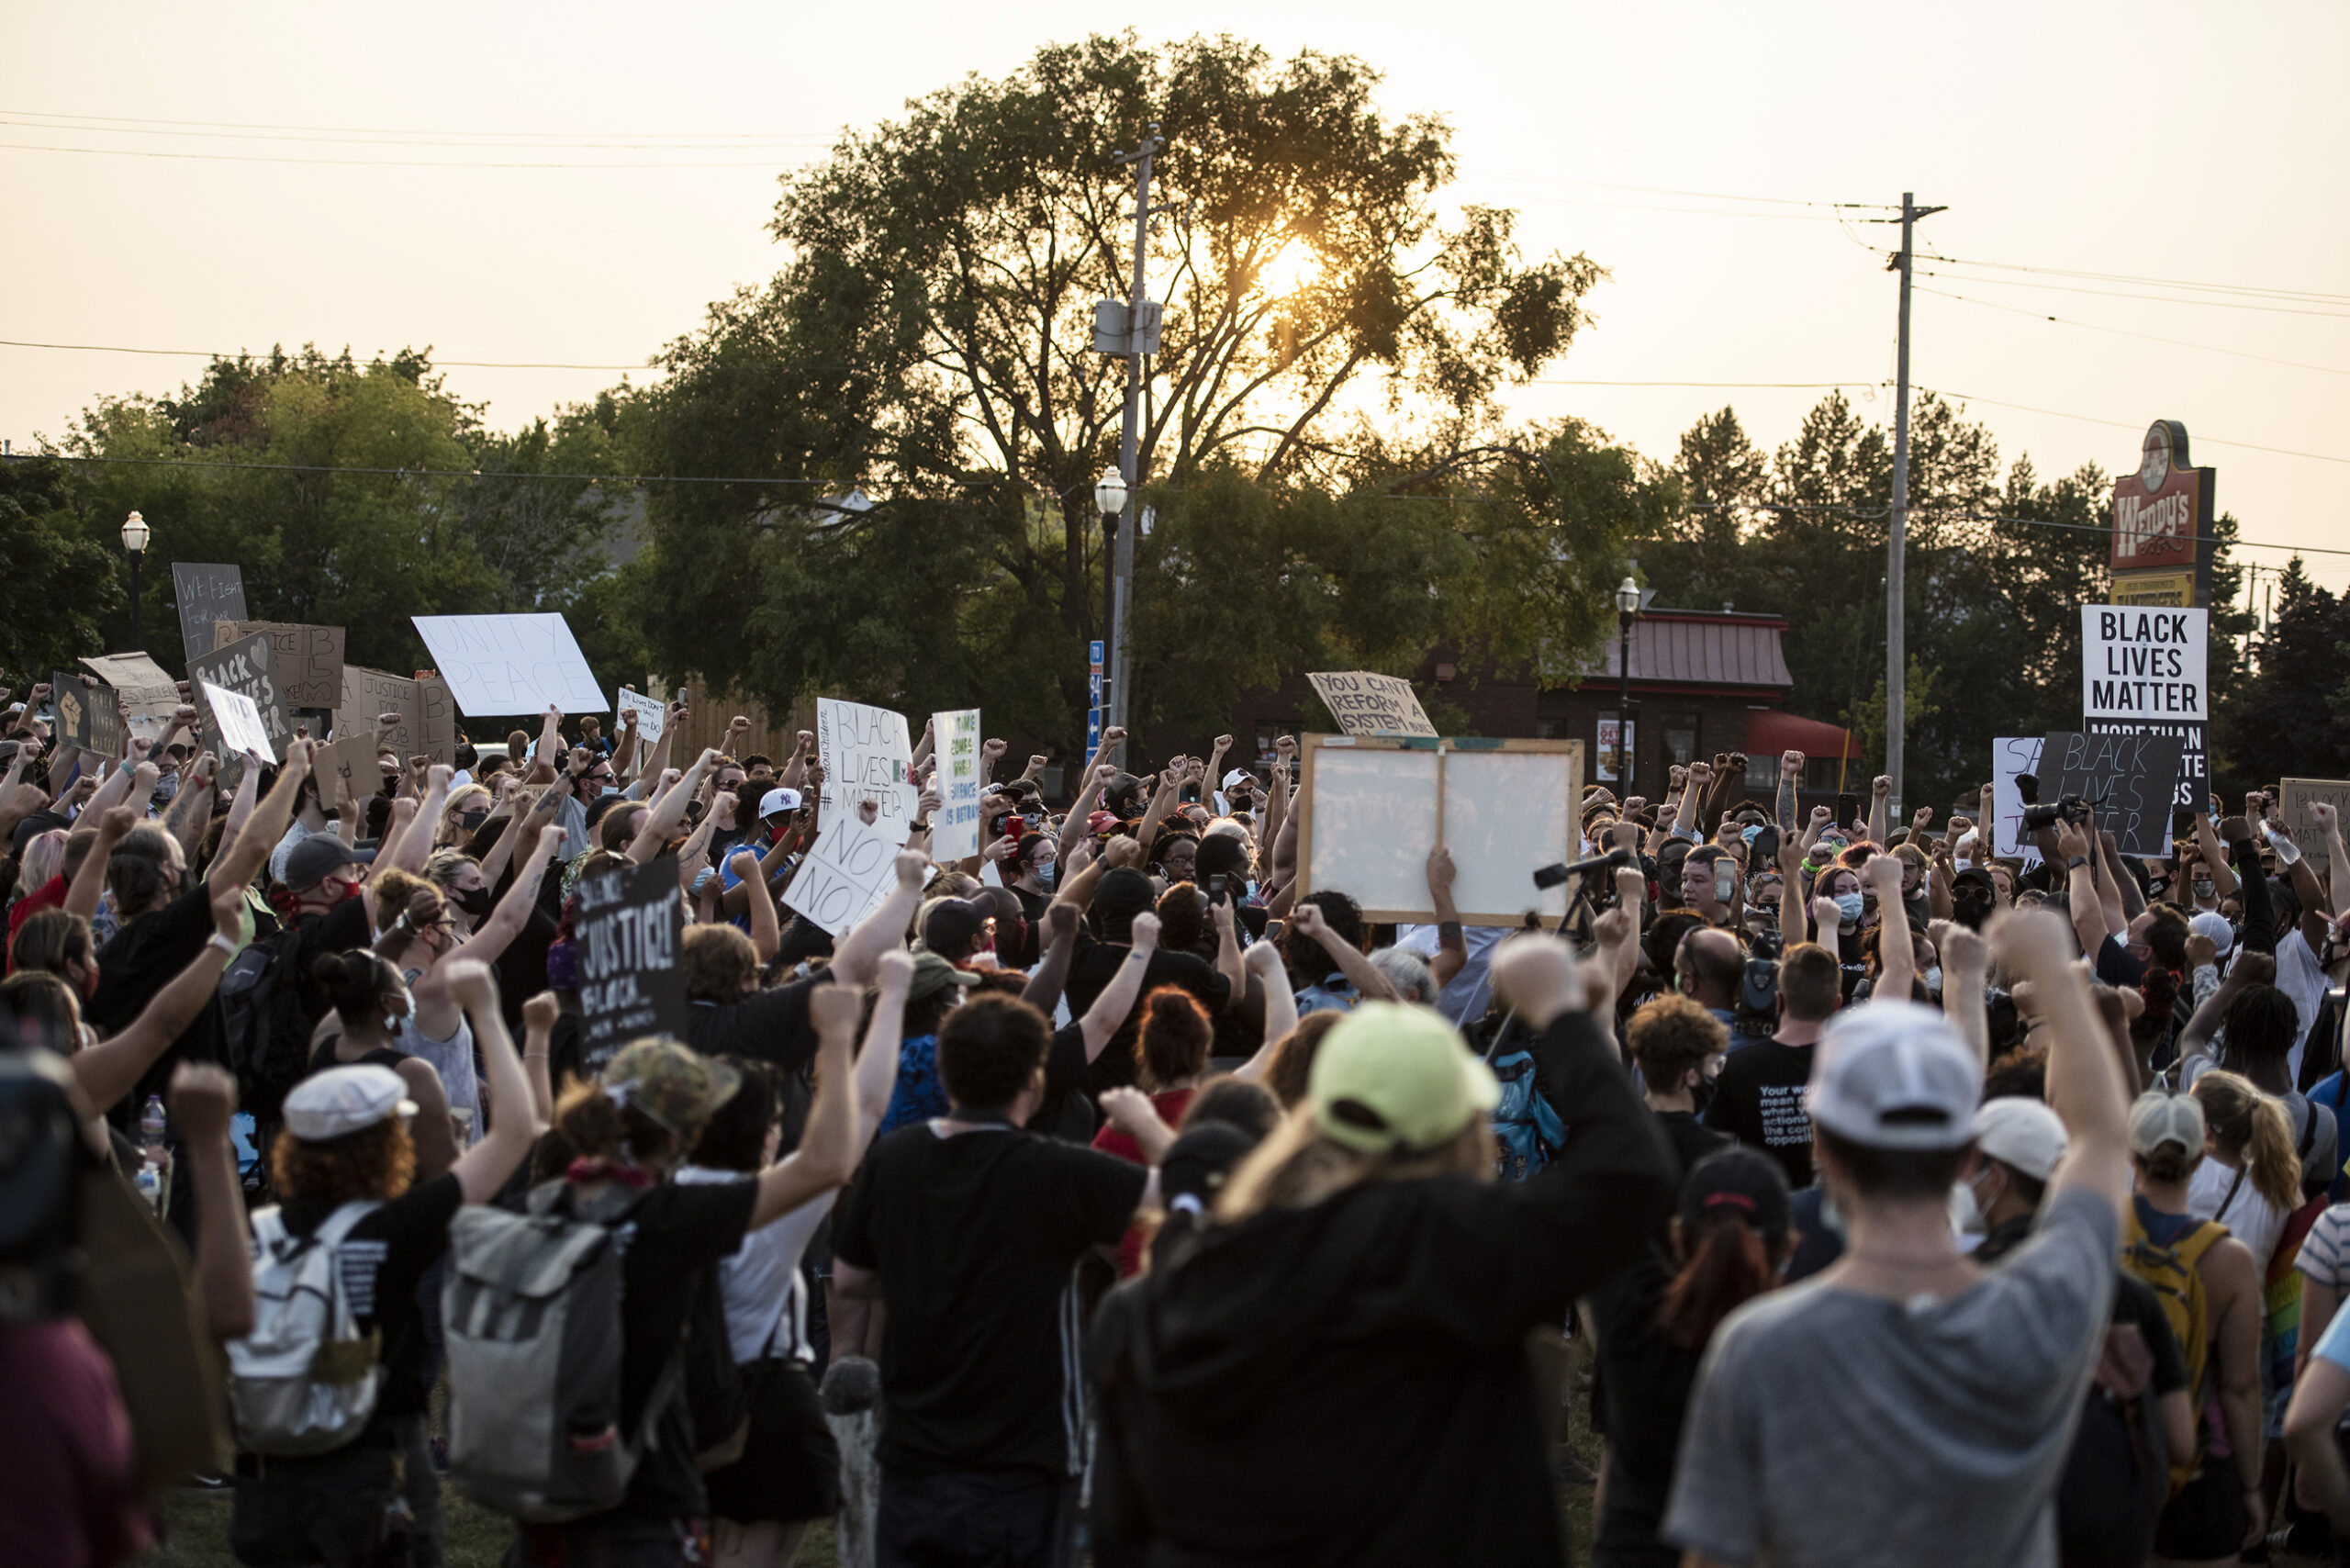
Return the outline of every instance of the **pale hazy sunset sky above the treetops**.
<path id="1" fill-rule="evenodd" d="M 7 9 L 0 339 L 590 367 L 451 364 L 498 428 L 768 277 L 776 174 L 841 127 L 1128 26 L 935 0 Z M 1528 416 L 1654 458 L 1725 404 L 1777 447 L 1826 383 L 1892 423 L 1899 228 L 1866 219 L 1915 190 L 1948 207 L 1918 226 L 1918 388 L 1965 395 L 2042 477 L 2134 468 L 2146 425 L 2178 418 L 2263 545 L 2244 559 L 2331 548 L 2310 571 L 2350 585 L 2350 207 L 2329 195 L 2350 186 L 2350 7 L 1177 12 L 1133 26 L 1365 59 L 1386 113 L 1452 125 L 1452 200 L 1518 207 L 1530 252 L 1610 268 L 1567 357 L 1513 395 Z M 0 437 L 21 451 L 200 369 L 0 346 Z"/>

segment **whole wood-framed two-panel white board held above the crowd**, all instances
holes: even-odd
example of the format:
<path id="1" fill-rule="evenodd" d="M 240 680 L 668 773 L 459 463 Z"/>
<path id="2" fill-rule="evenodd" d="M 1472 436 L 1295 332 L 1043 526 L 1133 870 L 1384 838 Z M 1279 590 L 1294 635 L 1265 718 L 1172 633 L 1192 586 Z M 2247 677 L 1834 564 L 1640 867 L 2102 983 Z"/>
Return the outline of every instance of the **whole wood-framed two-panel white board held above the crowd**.
<path id="1" fill-rule="evenodd" d="M 1335 889 L 1370 922 L 1434 922 L 1429 851 L 1452 851 L 1464 926 L 1556 926 L 1567 889 L 1535 867 L 1582 844 L 1582 741 L 1300 736 L 1297 893 Z"/>

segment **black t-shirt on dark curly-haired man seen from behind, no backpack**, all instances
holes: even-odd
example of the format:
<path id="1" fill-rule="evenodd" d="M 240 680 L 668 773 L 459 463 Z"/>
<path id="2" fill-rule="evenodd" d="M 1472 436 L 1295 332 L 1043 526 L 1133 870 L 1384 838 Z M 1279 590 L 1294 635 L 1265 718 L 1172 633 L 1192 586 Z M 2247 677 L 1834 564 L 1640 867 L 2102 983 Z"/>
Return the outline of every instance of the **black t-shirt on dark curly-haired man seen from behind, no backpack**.
<path id="1" fill-rule="evenodd" d="M 1126 1234 L 1149 1173 L 1013 1128 L 872 1147 L 832 1255 L 881 1274 L 881 1465 L 1072 1476 L 1083 1425 L 1072 1274 Z"/>

